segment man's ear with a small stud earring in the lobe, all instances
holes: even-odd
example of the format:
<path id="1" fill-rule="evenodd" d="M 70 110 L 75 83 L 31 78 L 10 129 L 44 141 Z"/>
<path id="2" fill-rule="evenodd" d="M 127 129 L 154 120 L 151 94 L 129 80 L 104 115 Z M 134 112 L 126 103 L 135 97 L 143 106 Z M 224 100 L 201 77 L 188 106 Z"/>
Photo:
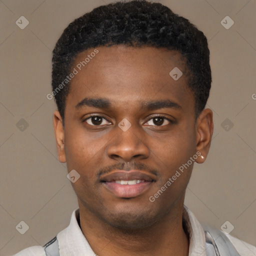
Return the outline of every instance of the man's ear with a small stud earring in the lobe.
<path id="1" fill-rule="evenodd" d="M 197 163 L 204 162 L 209 152 L 213 133 L 212 115 L 212 111 L 209 108 L 205 108 L 196 120 L 196 151 L 201 153 L 195 160 Z"/>

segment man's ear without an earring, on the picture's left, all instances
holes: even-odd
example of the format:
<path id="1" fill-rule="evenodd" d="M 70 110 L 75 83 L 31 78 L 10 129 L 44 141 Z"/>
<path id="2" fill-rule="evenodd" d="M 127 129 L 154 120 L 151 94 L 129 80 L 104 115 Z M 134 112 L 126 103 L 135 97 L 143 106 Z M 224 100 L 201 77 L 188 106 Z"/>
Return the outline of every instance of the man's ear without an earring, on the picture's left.
<path id="1" fill-rule="evenodd" d="M 53 126 L 57 145 L 58 160 L 60 162 L 65 162 L 66 156 L 64 150 L 64 127 L 58 110 L 55 110 L 53 113 Z"/>

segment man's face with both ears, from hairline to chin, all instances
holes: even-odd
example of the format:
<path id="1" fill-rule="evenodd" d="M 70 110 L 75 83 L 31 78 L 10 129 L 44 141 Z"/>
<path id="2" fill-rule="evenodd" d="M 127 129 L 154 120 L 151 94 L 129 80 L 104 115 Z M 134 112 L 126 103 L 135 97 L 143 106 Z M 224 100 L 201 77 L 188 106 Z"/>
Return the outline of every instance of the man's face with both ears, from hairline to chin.
<path id="1" fill-rule="evenodd" d="M 211 111 L 195 120 L 178 52 L 97 47 L 79 65 L 93 50 L 75 59 L 64 127 L 54 113 L 59 160 L 80 175 L 72 183 L 80 210 L 115 227 L 150 226 L 182 207 L 193 163 L 203 161 L 193 155 L 207 154 Z M 174 67 L 182 71 L 177 80 L 169 75 Z"/>

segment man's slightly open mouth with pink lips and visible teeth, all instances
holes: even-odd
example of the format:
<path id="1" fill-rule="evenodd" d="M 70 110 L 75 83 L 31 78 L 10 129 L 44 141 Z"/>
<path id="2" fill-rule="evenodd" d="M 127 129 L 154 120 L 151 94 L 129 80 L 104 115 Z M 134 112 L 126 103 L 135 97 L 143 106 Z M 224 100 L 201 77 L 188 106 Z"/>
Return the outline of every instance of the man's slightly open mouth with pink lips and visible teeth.
<path id="1" fill-rule="evenodd" d="M 114 170 L 100 176 L 100 182 L 108 192 L 120 198 L 136 197 L 150 188 L 156 176 L 147 171 Z"/>

